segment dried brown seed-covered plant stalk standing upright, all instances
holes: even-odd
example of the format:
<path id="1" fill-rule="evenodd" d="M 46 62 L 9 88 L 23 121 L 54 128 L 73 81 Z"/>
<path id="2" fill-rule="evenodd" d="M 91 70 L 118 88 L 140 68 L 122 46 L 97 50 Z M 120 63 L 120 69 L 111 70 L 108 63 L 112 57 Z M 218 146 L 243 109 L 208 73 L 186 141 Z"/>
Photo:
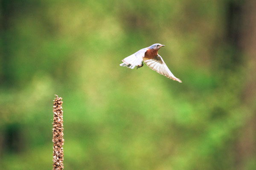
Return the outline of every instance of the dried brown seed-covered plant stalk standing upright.
<path id="1" fill-rule="evenodd" d="M 63 111 L 62 98 L 55 95 L 53 104 L 53 168 L 52 170 L 63 170 Z"/>

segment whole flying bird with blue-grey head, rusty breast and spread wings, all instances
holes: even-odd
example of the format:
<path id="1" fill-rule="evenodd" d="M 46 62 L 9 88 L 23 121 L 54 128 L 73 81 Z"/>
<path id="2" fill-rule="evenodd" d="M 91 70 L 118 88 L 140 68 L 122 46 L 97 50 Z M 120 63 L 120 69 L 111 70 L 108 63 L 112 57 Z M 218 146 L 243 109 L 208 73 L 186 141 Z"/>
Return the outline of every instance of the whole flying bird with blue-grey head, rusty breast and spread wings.
<path id="1" fill-rule="evenodd" d="M 162 74 L 177 82 L 182 82 L 180 79 L 172 74 L 166 63 L 163 61 L 163 58 L 158 54 L 158 50 L 164 46 L 165 45 L 156 43 L 149 47 L 143 48 L 136 53 L 122 59 L 122 63 L 120 64 L 120 66 L 126 66 L 131 69 L 137 67 L 138 69 L 143 67 L 144 61 L 149 68 L 156 71 L 157 73 Z"/>

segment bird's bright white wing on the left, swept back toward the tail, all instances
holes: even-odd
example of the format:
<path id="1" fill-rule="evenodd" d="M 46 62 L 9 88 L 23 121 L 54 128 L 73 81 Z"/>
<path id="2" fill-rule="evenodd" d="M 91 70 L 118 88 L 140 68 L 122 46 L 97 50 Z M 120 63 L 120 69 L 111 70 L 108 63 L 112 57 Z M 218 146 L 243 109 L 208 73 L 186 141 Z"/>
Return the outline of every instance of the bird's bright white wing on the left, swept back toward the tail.
<path id="1" fill-rule="evenodd" d="M 136 53 L 122 59 L 121 66 L 126 66 L 128 68 L 134 69 L 137 65 L 141 65 L 143 61 L 143 57 L 145 55 L 145 52 L 148 50 L 148 48 L 143 48 Z"/>

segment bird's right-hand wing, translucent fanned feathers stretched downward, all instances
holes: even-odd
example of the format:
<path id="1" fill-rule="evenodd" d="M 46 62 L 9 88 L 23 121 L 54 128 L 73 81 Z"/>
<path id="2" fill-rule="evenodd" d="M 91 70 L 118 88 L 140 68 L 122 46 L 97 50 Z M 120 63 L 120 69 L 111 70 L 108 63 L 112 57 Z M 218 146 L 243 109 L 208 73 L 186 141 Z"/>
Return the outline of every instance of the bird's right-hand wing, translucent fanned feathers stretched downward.
<path id="1" fill-rule="evenodd" d="M 176 80 L 177 82 L 181 82 L 180 79 L 172 74 L 172 72 L 169 70 L 166 63 L 163 61 L 162 57 L 159 54 L 152 59 L 145 60 L 144 62 L 148 65 L 148 67 L 150 67 L 157 73 L 162 74 L 170 79 Z"/>

